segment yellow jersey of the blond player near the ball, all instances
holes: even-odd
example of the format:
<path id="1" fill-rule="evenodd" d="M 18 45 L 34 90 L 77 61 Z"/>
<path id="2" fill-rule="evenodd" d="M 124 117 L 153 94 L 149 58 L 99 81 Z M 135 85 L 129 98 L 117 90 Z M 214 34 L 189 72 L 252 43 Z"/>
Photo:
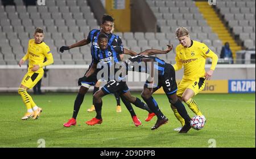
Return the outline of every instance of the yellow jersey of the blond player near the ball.
<path id="1" fill-rule="evenodd" d="M 203 78 L 205 75 L 205 59 L 212 58 L 211 70 L 214 70 L 218 56 L 207 45 L 199 41 L 191 41 L 191 46 L 185 48 L 181 44 L 176 46 L 175 71 L 184 67 L 183 79 L 193 80 Z"/>

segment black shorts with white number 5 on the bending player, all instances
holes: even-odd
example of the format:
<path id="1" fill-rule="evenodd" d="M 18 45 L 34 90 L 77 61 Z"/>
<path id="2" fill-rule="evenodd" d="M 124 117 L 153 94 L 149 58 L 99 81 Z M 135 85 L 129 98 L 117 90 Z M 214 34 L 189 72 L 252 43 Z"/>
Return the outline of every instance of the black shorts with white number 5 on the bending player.
<path id="1" fill-rule="evenodd" d="M 144 84 L 144 87 L 147 87 L 148 81 Z M 174 94 L 177 92 L 177 83 L 175 79 L 175 70 L 174 67 L 170 63 L 166 63 L 164 66 L 164 74 L 158 76 L 158 83 L 153 91 L 155 92 L 159 88 L 163 87 L 164 92 L 169 94 Z"/>

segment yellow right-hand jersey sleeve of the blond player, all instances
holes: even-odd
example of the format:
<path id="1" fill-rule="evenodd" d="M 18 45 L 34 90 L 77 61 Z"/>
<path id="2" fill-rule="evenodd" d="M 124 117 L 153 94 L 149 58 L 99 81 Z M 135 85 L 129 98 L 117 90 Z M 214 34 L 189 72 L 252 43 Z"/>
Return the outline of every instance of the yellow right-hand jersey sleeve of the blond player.
<path id="1" fill-rule="evenodd" d="M 208 48 L 207 45 L 205 45 L 204 43 L 202 43 L 201 45 L 201 54 L 203 54 L 203 56 L 205 58 L 211 58 L 212 59 L 212 66 L 210 66 L 210 70 L 215 70 L 215 67 L 217 65 L 218 62 L 218 56 Z"/>

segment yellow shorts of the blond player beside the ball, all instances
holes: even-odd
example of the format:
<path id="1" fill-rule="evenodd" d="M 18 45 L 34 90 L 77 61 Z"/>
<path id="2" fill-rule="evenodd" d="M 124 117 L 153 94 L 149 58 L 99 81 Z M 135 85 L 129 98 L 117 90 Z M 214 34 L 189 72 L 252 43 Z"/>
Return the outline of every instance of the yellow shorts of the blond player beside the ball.
<path id="1" fill-rule="evenodd" d="M 184 80 L 182 79 L 178 85 L 177 96 L 182 97 L 184 91 L 189 88 L 192 89 L 196 96 L 197 93 L 201 92 L 204 89 L 205 81 L 204 78 L 198 78 L 196 80 Z"/>

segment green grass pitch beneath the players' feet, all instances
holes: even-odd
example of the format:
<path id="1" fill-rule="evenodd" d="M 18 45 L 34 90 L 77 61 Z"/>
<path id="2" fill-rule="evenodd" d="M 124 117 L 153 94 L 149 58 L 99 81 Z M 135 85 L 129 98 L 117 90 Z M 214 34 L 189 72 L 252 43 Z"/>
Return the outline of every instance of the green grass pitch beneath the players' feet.
<path id="1" fill-rule="evenodd" d="M 140 97 L 139 93 L 132 93 Z M 173 131 L 179 127 L 167 97 L 155 94 L 160 109 L 169 122 L 151 131 L 156 117 L 145 122 L 147 112 L 136 108 L 142 125 L 135 127 L 129 112 L 122 105 L 122 112 L 115 112 L 115 98 L 103 98 L 103 123 L 87 126 L 85 121 L 95 117 L 87 113 L 92 104 L 92 94 L 85 96 L 77 117 L 77 126 L 65 128 L 63 123 L 72 117 L 76 93 L 46 93 L 32 98 L 43 108 L 39 119 L 22 121 L 26 112 L 18 93 L 0 94 L 0 147 L 38 147 L 39 139 L 46 147 L 255 147 L 255 94 L 198 94 L 195 101 L 207 118 L 203 130 L 190 130 L 188 134 Z M 188 109 L 189 115 L 194 114 Z"/>

